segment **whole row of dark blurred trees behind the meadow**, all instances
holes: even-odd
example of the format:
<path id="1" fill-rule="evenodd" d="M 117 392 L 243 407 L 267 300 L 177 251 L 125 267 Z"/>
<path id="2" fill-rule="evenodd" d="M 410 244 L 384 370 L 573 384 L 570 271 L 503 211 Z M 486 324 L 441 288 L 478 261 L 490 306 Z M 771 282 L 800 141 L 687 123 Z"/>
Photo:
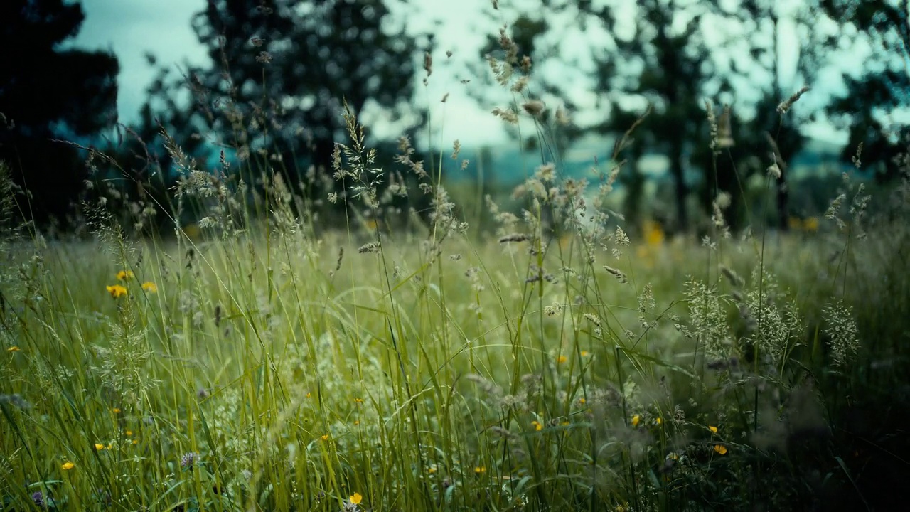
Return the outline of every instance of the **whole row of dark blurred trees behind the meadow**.
<path id="1" fill-rule="evenodd" d="M 693 204 L 710 216 L 726 192 L 727 222 L 743 227 L 743 182 L 774 167 L 774 222 L 786 229 L 788 164 L 807 143 L 801 127 L 823 116 L 849 129 L 844 161 L 854 161 L 862 145 L 861 171 L 895 178 L 887 164 L 905 150 L 910 132 L 895 128 L 886 114 L 910 106 L 906 0 L 806 0 L 786 11 L 772 0 L 644 0 L 634 26 L 620 17 L 619 1 L 546 0 L 511 13 L 495 4 L 478 15 L 515 21 L 506 37 L 491 36 L 478 56 L 477 82 L 511 87 L 520 101 L 603 114 L 585 124 L 556 119 L 557 110 L 547 108 L 541 119 L 561 121 L 559 137 L 535 136 L 522 145 L 550 150 L 545 158 L 558 162 L 578 138 L 616 138 L 641 119 L 622 155 L 627 219 L 642 216 L 648 178 L 638 162 L 656 152 L 669 162 L 675 203 L 665 212 L 668 224 L 693 228 Z M 415 35 L 389 6 L 386 0 L 210 0 L 192 20 L 210 65 L 159 67 L 139 121 L 116 128 L 116 57 L 66 47 L 84 20 L 80 5 L 3 2 L 0 159 L 29 190 L 18 198 L 23 217 L 70 226 L 86 180 L 105 179 L 142 208 L 167 210 L 176 180 L 190 168 L 226 174 L 274 169 L 302 195 L 324 198 L 328 185 L 319 183 L 331 180 L 334 144 L 346 138 L 342 102 L 355 113 L 368 104 L 385 109 L 412 138 L 426 121 L 426 111 L 415 107 L 415 86 L 431 73 L 425 55 L 441 58 L 447 48 L 435 47 L 431 32 Z M 566 19 L 604 36 L 565 51 L 568 43 L 554 35 L 566 29 Z M 782 69 L 784 26 L 795 31 L 799 46 L 792 77 Z M 843 97 L 826 98 L 818 111 L 792 103 L 802 87 L 818 84 L 826 67 L 859 46 L 876 58 L 844 75 Z M 538 71 L 563 60 L 577 70 L 574 56 L 594 64 L 587 78 L 596 106 L 572 101 L 571 80 Z M 497 59 L 498 70 L 490 72 L 487 57 Z M 157 67 L 154 57 L 148 60 Z M 490 95 L 476 94 L 491 105 Z M 521 104 L 514 108 L 521 111 Z M 110 133 L 116 136 L 101 137 Z M 393 168 L 395 141 L 375 142 L 385 149 L 380 159 Z M 88 146 L 117 165 L 89 158 Z"/>

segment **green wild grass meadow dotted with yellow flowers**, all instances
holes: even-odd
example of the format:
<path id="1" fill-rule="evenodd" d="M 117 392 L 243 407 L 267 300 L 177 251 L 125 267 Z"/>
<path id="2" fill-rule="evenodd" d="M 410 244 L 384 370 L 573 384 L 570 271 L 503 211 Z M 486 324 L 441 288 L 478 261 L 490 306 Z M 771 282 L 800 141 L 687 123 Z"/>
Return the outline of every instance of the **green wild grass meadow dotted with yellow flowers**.
<path id="1" fill-rule="evenodd" d="M 538 123 L 521 94 L 494 113 Z M 509 206 L 456 204 L 457 141 L 402 138 L 392 169 L 342 115 L 309 183 L 330 216 L 265 156 L 212 171 L 166 133 L 173 203 L 99 179 L 51 237 L 0 165 L 0 510 L 903 503 L 910 157 L 789 231 L 772 166 L 748 229 L 719 193 L 696 236 L 611 210 L 624 139 L 590 184 L 542 159 Z M 153 206 L 167 230 L 136 236 Z"/>

